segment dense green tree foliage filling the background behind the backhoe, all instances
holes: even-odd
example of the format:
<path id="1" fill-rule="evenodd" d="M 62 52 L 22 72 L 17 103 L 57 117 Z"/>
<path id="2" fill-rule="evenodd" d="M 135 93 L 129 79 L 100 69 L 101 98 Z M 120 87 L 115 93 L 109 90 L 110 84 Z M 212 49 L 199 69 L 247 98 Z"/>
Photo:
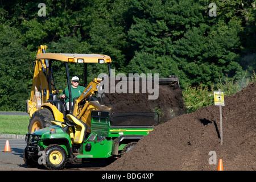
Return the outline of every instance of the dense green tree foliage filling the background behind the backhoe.
<path id="1" fill-rule="evenodd" d="M 0 110 L 26 109 L 41 44 L 47 52 L 109 55 L 115 73 L 177 75 L 181 88 L 239 80 L 256 68 L 252 0 L 46 0 L 39 16 L 41 2 L 0 0 Z M 105 71 L 89 69 L 90 77 Z M 75 65 L 71 72 L 81 75 Z"/>

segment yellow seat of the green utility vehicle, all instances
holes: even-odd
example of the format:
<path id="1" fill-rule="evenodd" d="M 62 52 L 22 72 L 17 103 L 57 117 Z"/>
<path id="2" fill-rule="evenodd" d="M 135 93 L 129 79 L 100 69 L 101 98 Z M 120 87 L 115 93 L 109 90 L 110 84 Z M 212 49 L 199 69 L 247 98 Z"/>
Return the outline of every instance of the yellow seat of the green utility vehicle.
<path id="1" fill-rule="evenodd" d="M 80 144 L 84 141 L 85 139 L 85 134 L 87 131 L 88 126 L 85 125 L 84 122 L 82 122 L 80 119 L 77 119 L 74 115 L 72 114 L 67 114 L 66 118 L 73 121 L 76 123 L 76 131 L 75 131 L 75 136 L 74 136 L 74 143 Z"/>

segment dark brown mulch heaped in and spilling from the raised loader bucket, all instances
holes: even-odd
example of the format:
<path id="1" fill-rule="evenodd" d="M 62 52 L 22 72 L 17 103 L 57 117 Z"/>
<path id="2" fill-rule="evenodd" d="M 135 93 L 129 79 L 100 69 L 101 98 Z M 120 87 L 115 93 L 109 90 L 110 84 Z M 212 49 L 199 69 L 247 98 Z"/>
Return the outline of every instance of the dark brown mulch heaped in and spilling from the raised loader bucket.
<path id="1" fill-rule="evenodd" d="M 115 85 L 118 82 L 116 81 Z M 139 82 L 139 86 L 139 93 L 135 93 L 135 85 L 133 85 L 133 93 L 129 93 L 129 84 L 127 84 L 127 93 L 115 92 L 106 94 L 104 105 L 111 107 L 112 112 L 158 111 L 159 122 L 166 122 L 187 112 L 180 88 L 159 85 L 158 98 L 156 100 L 149 100 L 148 96 L 155 93 L 142 93 L 141 82 Z"/>

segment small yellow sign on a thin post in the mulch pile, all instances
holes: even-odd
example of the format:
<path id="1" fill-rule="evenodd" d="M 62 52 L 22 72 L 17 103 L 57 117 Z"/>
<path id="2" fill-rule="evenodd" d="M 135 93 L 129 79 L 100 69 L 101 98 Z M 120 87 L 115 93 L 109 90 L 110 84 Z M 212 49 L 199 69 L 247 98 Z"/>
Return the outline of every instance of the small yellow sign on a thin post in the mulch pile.
<path id="1" fill-rule="evenodd" d="M 221 109 L 221 106 L 225 106 L 225 102 L 224 102 L 224 93 L 221 92 L 220 89 L 218 89 L 218 92 L 214 92 L 214 105 L 220 106 L 220 137 L 221 137 L 221 146 L 222 146 L 223 138 L 222 138 L 222 109 Z"/>

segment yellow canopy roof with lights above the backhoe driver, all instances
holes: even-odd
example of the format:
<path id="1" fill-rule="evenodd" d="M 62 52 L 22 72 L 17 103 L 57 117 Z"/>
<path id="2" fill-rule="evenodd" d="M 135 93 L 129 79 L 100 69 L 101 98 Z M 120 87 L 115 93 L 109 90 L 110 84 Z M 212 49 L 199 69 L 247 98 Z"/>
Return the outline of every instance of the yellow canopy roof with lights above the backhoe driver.
<path id="1" fill-rule="evenodd" d="M 39 53 L 36 60 L 52 59 L 73 63 L 111 63 L 108 55 L 100 54 L 78 54 L 78 53 Z"/>

